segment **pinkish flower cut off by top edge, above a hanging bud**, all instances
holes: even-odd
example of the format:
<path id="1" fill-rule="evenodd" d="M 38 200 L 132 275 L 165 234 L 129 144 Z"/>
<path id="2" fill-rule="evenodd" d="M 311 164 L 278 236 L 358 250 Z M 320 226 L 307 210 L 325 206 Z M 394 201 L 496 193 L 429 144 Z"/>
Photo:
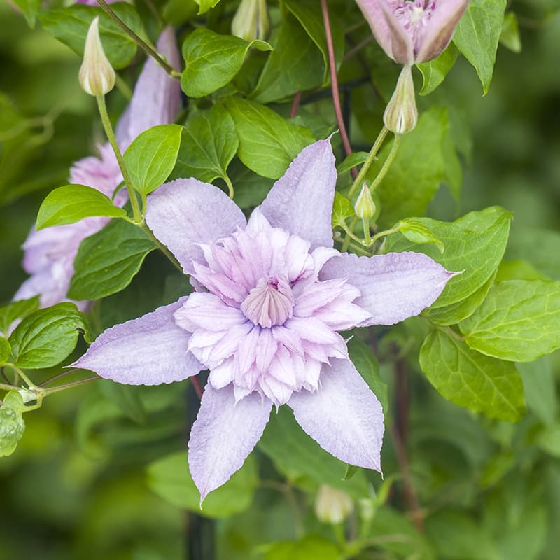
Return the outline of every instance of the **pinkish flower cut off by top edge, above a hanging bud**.
<path id="1" fill-rule="evenodd" d="M 468 0 L 356 0 L 377 43 L 395 62 L 428 62 L 449 45 Z"/>

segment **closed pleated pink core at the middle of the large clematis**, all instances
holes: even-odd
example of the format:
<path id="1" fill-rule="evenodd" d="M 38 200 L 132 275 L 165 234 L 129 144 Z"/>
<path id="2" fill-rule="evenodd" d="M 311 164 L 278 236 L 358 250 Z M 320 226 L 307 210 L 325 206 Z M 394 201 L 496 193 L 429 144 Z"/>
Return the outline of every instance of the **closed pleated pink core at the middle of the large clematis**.
<path id="1" fill-rule="evenodd" d="M 241 304 L 241 311 L 255 325 L 283 325 L 293 316 L 294 297 L 288 281 L 261 278 Z"/>

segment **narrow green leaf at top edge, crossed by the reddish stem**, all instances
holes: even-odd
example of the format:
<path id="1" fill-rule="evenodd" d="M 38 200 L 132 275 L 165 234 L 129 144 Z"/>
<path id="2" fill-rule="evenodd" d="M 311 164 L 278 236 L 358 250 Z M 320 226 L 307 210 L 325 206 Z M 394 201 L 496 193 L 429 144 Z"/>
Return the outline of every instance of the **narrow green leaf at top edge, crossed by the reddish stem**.
<path id="1" fill-rule="evenodd" d="M 329 57 L 325 25 L 323 23 L 321 11 L 317 9 L 316 3 L 313 0 L 286 0 L 284 4 L 295 18 L 297 18 L 305 31 L 307 31 L 311 41 L 313 41 L 321 51 L 324 68 L 323 85 L 327 85 L 329 83 Z M 342 64 L 342 57 L 344 57 L 344 29 L 341 20 L 338 18 L 330 18 L 330 31 L 338 69 L 340 64 Z"/>

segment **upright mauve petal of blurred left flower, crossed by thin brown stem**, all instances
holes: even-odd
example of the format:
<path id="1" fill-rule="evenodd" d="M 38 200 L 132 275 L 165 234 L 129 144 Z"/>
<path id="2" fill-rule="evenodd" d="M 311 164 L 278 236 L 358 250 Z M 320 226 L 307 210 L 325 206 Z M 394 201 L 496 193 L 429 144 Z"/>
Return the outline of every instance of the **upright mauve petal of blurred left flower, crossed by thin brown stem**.
<path id="1" fill-rule="evenodd" d="M 179 50 L 172 27 L 166 27 L 158 39 L 158 51 L 178 69 Z M 121 150 L 144 130 L 173 123 L 181 105 L 181 84 L 171 78 L 152 58 L 144 65 L 132 100 L 118 123 L 117 139 Z"/>

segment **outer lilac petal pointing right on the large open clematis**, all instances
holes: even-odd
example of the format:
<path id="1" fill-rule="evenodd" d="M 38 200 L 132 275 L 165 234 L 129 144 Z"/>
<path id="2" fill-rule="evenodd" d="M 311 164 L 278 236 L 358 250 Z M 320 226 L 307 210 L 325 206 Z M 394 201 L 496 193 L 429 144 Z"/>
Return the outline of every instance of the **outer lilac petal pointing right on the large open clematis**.
<path id="1" fill-rule="evenodd" d="M 353 303 L 372 315 L 359 326 L 393 325 L 433 304 L 454 273 L 422 253 L 358 257 L 343 253 L 330 259 L 319 278 L 346 278 L 361 296 Z"/>

